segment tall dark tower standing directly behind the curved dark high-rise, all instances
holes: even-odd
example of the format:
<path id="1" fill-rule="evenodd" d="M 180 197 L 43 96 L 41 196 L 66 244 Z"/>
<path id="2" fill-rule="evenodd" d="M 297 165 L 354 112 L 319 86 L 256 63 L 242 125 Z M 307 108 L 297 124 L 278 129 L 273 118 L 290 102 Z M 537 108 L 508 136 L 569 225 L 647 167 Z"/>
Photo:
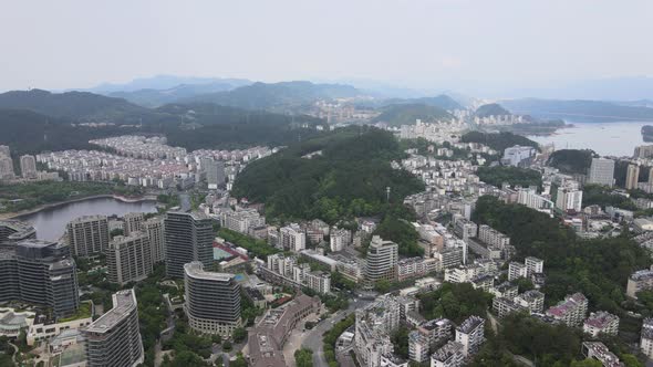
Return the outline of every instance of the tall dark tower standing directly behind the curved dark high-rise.
<path id="1" fill-rule="evenodd" d="M 164 222 L 166 274 L 184 277 L 184 264 L 199 261 L 210 266 L 214 261 L 214 228 L 200 212 L 168 212 Z"/>

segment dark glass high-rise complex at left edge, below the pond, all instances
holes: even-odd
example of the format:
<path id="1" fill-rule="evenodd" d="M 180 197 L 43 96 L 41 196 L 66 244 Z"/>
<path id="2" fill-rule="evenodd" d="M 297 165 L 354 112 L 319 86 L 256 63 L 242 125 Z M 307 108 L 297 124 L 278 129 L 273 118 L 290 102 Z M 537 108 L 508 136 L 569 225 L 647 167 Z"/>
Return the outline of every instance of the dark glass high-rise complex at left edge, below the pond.
<path id="1" fill-rule="evenodd" d="M 68 245 L 25 240 L 0 248 L 0 302 L 20 300 L 46 305 L 55 317 L 80 306 L 77 273 Z"/>

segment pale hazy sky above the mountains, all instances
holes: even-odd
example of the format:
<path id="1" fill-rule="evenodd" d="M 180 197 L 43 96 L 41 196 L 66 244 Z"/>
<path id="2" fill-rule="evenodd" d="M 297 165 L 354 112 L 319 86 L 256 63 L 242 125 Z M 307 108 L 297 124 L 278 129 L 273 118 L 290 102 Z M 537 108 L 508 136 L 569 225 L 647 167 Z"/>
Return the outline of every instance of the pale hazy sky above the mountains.
<path id="1" fill-rule="evenodd" d="M 419 88 L 653 75 L 651 0 L 0 0 L 0 90 L 155 74 Z"/>

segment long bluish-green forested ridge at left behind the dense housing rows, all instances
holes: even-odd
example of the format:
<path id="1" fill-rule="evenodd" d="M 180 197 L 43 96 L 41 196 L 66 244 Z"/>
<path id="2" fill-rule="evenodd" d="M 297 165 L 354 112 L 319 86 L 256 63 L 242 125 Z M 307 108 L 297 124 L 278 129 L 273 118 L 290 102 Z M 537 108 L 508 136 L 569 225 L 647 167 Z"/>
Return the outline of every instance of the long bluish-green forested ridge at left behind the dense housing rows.
<path id="1" fill-rule="evenodd" d="M 48 101 L 44 102 L 41 94 Z M 115 125 L 79 125 L 87 122 Z M 8 144 L 14 155 L 90 149 L 90 139 L 123 134 L 165 134 L 170 145 L 190 150 L 279 146 L 318 135 L 313 126 L 321 123 L 308 116 L 245 111 L 209 103 L 148 109 L 124 99 L 90 93 L 31 91 L 0 94 L 0 144 Z"/>

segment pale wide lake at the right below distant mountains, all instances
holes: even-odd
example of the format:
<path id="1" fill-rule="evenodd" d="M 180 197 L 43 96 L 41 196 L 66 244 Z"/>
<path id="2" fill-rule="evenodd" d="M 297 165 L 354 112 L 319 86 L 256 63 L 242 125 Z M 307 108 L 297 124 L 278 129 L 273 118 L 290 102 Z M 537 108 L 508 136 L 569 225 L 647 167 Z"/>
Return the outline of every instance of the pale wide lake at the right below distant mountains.
<path id="1" fill-rule="evenodd" d="M 549 136 L 528 136 L 540 144 L 556 145 L 556 149 L 592 149 L 601 156 L 632 156 L 642 139 L 642 126 L 652 122 L 573 123 Z"/>

